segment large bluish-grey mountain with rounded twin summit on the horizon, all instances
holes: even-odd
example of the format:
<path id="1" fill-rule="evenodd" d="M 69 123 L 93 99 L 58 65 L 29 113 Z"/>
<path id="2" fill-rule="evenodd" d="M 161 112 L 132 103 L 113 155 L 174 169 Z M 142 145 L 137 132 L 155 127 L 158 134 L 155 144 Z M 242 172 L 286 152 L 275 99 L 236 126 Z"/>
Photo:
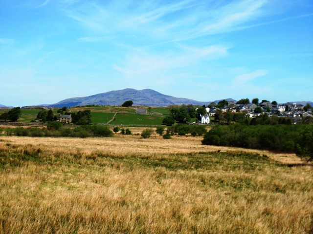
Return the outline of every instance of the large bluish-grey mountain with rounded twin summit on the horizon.
<path id="1" fill-rule="evenodd" d="M 172 96 L 158 93 L 152 89 L 123 89 L 102 94 L 96 94 L 88 97 L 67 98 L 55 104 L 52 104 L 51 106 L 72 107 L 89 104 L 118 106 L 122 105 L 124 101 L 127 100 L 132 100 L 134 102 L 134 105 L 142 106 L 169 106 L 175 104 L 208 105 L 211 103 L 210 101 L 196 101 L 187 98 L 175 98 Z"/>

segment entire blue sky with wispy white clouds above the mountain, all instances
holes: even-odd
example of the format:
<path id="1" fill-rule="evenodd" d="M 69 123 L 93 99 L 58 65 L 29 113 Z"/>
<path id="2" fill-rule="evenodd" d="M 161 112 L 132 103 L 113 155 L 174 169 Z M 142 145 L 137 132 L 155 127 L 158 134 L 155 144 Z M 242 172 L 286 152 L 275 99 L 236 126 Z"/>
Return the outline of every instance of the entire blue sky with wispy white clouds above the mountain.
<path id="1" fill-rule="evenodd" d="M 313 1 L 0 0 L 0 104 L 125 88 L 313 101 Z"/>

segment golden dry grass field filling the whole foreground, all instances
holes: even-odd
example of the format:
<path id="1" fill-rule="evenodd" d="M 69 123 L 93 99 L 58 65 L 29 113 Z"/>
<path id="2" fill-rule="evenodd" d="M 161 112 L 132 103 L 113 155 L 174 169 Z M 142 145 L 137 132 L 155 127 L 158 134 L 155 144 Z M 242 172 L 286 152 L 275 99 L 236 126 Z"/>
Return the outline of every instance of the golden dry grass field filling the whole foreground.
<path id="1" fill-rule="evenodd" d="M 0 234 L 313 233 L 312 165 L 201 139 L 1 136 Z"/>

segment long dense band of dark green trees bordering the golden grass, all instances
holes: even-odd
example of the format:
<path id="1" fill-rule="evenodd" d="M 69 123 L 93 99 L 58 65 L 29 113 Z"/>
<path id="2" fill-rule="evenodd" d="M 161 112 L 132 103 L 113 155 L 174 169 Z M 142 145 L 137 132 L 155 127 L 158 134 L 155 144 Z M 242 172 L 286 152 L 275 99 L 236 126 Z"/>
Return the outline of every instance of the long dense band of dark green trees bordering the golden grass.
<path id="1" fill-rule="evenodd" d="M 217 125 L 202 144 L 296 153 L 313 160 L 313 124 Z"/>

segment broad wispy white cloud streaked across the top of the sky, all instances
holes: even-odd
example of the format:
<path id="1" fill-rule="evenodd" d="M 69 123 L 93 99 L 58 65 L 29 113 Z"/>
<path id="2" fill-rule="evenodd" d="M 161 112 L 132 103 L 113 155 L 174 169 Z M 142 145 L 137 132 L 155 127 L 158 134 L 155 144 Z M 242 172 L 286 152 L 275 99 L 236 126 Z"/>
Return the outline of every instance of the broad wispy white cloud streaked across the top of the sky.
<path id="1" fill-rule="evenodd" d="M 66 15 L 97 34 L 132 34 L 159 40 L 195 39 L 236 30 L 262 15 L 266 0 L 240 0 L 217 6 L 211 1 L 128 0 L 106 5 L 90 1 L 66 7 Z M 131 11 L 129 9 L 132 9 Z"/>

